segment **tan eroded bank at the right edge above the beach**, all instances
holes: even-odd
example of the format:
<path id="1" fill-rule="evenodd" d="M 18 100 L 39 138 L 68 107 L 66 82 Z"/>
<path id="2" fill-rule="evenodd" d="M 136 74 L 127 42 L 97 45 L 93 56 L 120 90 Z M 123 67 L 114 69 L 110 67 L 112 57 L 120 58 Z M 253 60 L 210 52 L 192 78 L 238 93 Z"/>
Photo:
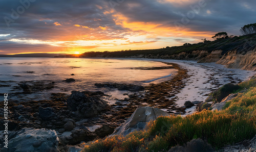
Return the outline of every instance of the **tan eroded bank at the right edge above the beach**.
<path id="1" fill-rule="evenodd" d="M 256 44 L 242 51 L 231 50 L 216 63 L 226 65 L 228 68 L 256 70 Z"/>

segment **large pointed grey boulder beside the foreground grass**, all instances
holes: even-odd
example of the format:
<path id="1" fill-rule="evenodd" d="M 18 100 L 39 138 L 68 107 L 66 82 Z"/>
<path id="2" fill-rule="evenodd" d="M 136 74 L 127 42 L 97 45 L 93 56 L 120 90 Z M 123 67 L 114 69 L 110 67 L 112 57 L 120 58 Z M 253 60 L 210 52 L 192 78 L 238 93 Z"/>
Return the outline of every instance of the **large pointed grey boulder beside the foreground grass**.
<path id="1" fill-rule="evenodd" d="M 158 108 L 137 108 L 129 119 L 127 119 L 122 125 L 115 129 L 111 136 L 126 136 L 131 132 L 144 130 L 148 122 L 151 120 L 156 120 L 156 118 L 159 116 L 169 116 L 169 114 Z"/>

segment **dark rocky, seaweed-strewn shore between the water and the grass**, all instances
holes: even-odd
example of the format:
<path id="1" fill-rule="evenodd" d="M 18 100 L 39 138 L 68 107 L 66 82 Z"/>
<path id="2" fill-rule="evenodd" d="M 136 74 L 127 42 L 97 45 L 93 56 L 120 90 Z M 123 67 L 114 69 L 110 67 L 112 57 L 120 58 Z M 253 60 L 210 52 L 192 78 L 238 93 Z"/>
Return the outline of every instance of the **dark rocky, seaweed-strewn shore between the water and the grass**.
<path id="1" fill-rule="evenodd" d="M 198 77 L 193 69 L 188 69 L 177 63 L 164 63 L 168 65 L 164 68 L 177 69 L 177 73 L 172 75 L 172 80 L 170 81 L 159 84 L 152 83 L 147 86 L 95 83 L 98 88 L 127 91 L 127 97 L 118 99 L 114 105 L 109 105 L 103 100 L 104 97 L 109 96 L 104 92 L 83 90 L 72 91 L 71 94 L 51 93 L 49 94 L 49 100 L 10 100 L 8 105 L 10 111 L 8 136 L 12 149 L 9 149 L 9 151 L 19 149 L 20 144 L 26 145 L 27 149 L 25 151 L 40 151 L 43 147 L 51 151 L 81 150 L 77 145 L 82 142 L 106 137 L 111 135 L 115 129 L 116 132 L 122 131 L 123 126 L 125 126 L 124 122 L 129 121 L 129 117 L 138 107 L 147 106 L 164 109 L 167 115 L 187 114 L 188 111 L 193 111 L 191 107 L 194 107 L 194 109 L 198 107 L 199 111 L 211 107 L 215 109 L 211 105 L 212 100 L 202 103 L 204 100 L 184 99 L 185 102 L 182 105 L 178 104 L 177 101 L 181 100 L 179 94 L 189 92 L 190 88 L 187 87 L 192 87 L 189 85 L 192 82 L 189 81 L 198 82 L 197 79 L 200 78 L 193 80 L 194 77 Z M 229 81 L 242 81 L 233 79 L 231 76 L 228 78 Z M 214 75 L 207 75 L 207 77 L 211 78 L 206 83 L 213 83 L 216 86 L 220 86 L 222 83 L 217 83 L 217 78 L 214 78 Z M 226 75 L 226 77 L 229 76 Z M 199 82 L 202 83 L 201 81 Z M 23 94 L 50 90 L 55 87 L 55 82 L 51 81 L 47 83 L 32 82 L 32 84 L 27 85 L 26 82 L 18 83 L 18 86 L 14 89 L 19 90 L 19 92 L 15 95 L 20 95 L 22 98 Z M 193 90 L 198 89 L 197 86 L 193 87 Z M 211 88 L 209 91 L 213 90 L 215 89 Z M 208 94 L 206 93 L 206 95 Z M 4 107 L 3 104 L 1 102 L 0 107 Z M 0 109 L 0 122 L 4 123 L 3 108 Z M 146 122 L 148 122 L 147 119 L 145 122 L 143 120 L 141 125 L 136 123 L 135 129 L 143 129 Z M 5 130 L 3 125 L 0 126 L 0 130 Z M 3 132 L 1 132 L 1 135 L 3 135 Z M 0 143 L 4 142 L 3 139 L 0 139 Z M 1 150 L 8 151 L 3 146 L 3 144 L 0 145 Z"/>

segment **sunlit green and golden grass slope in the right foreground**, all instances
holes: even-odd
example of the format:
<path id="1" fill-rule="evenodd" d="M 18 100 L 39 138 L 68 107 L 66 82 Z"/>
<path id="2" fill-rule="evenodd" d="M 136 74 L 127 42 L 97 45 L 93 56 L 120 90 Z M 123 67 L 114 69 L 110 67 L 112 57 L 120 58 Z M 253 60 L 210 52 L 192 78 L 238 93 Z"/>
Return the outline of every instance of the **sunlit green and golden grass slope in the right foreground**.
<path id="1" fill-rule="evenodd" d="M 256 134 L 256 79 L 239 86 L 247 91 L 230 100 L 222 111 L 159 117 L 145 131 L 99 139 L 85 144 L 83 151 L 167 151 L 194 138 L 204 139 L 218 149 L 251 139 Z"/>

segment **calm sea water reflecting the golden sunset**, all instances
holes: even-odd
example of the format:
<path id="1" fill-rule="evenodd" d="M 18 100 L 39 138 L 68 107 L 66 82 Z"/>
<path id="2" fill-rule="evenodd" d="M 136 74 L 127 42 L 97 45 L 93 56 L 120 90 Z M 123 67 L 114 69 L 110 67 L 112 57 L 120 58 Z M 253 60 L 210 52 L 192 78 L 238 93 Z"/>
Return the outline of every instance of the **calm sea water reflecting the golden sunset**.
<path id="1" fill-rule="evenodd" d="M 70 93 L 77 91 L 104 91 L 120 97 L 122 91 L 97 88 L 95 83 L 126 83 L 148 85 L 169 80 L 175 69 L 143 70 L 138 67 L 161 67 L 166 64 L 155 61 L 127 59 L 87 59 L 87 58 L 0 58 L 0 93 L 18 92 L 15 86 L 20 83 L 32 85 L 40 81 L 55 82 L 55 88 L 34 94 L 13 98 L 47 99 L 49 93 Z M 75 75 L 71 75 L 75 74 Z M 165 78 L 163 78 L 165 77 Z M 63 80 L 73 78 L 74 83 Z M 161 79 L 160 79 L 161 78 Z M 9 82 L 6 82 L 9 81 Z M 19 90 L 22 92 L 22 90 Z"/>

